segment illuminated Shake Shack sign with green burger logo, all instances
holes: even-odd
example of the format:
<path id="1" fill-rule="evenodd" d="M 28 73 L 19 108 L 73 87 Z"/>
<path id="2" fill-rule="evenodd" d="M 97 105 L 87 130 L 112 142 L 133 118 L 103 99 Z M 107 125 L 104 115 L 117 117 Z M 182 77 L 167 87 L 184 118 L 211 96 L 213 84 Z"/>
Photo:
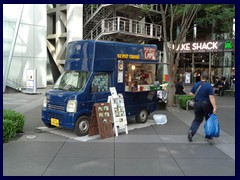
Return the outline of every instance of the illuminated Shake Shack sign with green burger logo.
<path id="1" fill-rule="evenodd" d="M 173 49 L 175 47 L 173 46 Z M 234 51 L 233 42 L 226 41 L 208 41 L 208 42 L 186 42 L 176 47 L 177 51 L 181 53 L 194 52 L 223 52 Z"/>

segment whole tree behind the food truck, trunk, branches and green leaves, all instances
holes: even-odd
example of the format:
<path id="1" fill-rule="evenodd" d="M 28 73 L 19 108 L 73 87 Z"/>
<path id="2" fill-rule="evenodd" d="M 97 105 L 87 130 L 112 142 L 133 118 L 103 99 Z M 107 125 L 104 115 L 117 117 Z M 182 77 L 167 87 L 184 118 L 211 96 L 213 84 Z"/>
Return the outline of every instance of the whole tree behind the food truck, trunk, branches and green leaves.
<path id="1" fill-rule="evenodd" d="M 154 23 L 156 17 L 152 17 L 149 13 L 152 6 L 151 4 L 145 4 L 142 6 L 142 10 Z M 228 38 L 234 38 L 232 23 L 235 17 L 235 7 L 233 4 L 160 4 L 159 6 L 161 19 L 157 18 L 157 20 L 158 23 L 162 24 L 163 34 L 161 39 L 166 50 L 164 53 L 166 53 L 168 64 L 169 92 L 167 105 L 173 106 L 174 82 L 180 61 L 180 51 L 176 51 L 176 47 L 181 46 L 186 35 L 192 32 L 190 28 L 193 22 L 197 26 L 205 25 L 206 29 L 212 26 L 212 33 L 216 33 L 218 36 L 223 36 L 227 32 L 230 35 Z M 180 27 L 178 33 L 176 33 L 176 26 Z"/>

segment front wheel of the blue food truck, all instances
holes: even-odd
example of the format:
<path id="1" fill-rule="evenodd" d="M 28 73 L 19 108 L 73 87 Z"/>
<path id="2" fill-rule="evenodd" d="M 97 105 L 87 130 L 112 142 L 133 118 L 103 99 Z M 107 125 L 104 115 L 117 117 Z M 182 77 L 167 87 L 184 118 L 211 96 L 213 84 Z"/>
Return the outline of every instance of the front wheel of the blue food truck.
<path id="1" fill-rule="evenodd" d="M 77 136 L 85 136 L 88 134 L 90 119 L 88 116 L 80 116 L 74 125 L 74 133 Z"/>

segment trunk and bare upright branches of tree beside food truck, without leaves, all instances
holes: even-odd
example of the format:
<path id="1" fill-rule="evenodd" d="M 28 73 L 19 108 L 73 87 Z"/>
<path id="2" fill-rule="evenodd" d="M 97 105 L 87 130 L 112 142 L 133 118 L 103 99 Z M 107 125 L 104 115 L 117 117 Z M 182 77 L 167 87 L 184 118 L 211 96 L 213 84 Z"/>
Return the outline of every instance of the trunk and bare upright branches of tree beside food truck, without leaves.
<path id="1" fill-rule="evenodd" d="M 160 13 L 162 17 L 163 28 L 163 46 L 166 50 L 166 57 L 168 63 L 168 76 L 169 76 L 169 92 L 168 92 L 168 106 L 173 106 L 173 95 L 175 92 L 175 78 L 177 67 L 180 60 L 180 51 L 176 48 L 183 42 L 188 30 L 193 22 L 193 19 L 200 9 L 201 5 L 186 4 L 186 5 L 163 5 L 160 4 Z M 169 23 L 167 23 L 169 22 Z M 174 25 L 180 22 L 180 31 L 174 36 Z M 167 32 L 169 30 L 169 32 Z M 169 43 L 169 44 L 168 44 Z"/>

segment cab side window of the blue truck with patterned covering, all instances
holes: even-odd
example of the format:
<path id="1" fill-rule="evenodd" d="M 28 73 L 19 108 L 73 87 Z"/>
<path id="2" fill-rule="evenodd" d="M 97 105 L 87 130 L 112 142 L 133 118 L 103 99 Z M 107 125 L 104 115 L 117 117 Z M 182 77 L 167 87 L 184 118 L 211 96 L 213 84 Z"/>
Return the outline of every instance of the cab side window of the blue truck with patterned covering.
<path id="1" fill-rule="evenodd" d="M 109 74 L 96 74 L 91 87 L 94 92 L 109 91 Z"/>

